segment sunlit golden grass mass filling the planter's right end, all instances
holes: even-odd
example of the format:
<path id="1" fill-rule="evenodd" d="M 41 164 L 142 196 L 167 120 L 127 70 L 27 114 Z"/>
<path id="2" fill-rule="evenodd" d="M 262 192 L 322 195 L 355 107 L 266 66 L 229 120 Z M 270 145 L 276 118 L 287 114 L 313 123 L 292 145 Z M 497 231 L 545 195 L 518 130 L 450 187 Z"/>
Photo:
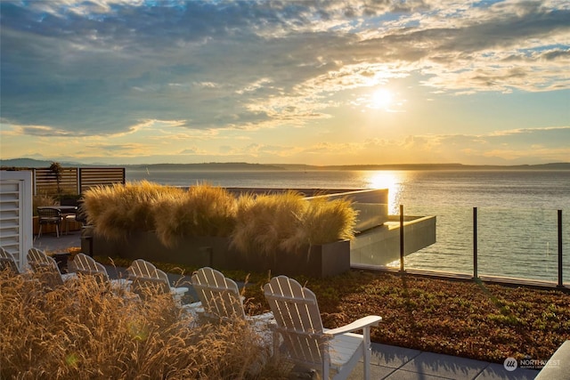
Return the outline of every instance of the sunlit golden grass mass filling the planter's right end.
<path id="1" fill-rule="evenodd" d="M 240 197 L 232 246 L 269 255 L 354 237 L 356 212 L 345 199 L 305 199 L 295 191 Z"/>

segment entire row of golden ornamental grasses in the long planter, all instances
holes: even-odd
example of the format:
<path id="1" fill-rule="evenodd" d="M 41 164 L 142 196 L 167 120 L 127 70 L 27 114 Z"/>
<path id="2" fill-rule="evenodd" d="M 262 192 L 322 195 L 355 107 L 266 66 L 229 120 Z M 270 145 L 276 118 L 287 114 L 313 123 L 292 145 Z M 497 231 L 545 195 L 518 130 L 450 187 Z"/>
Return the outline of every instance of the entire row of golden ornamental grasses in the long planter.
<path id="1" fill-rule="evenodd" d="M 346 199 L 306 199 L 296 191 L 244 194 L 200 184 L 189 190 L 151 182 L 128 182 L 85 192 L 85 214 L 94 233 L 127 239 L 154 231 L 166 247 L 184 237 L 230 237 L 242 252 L 297 252 L 354 238 L 357 213 Z"/>

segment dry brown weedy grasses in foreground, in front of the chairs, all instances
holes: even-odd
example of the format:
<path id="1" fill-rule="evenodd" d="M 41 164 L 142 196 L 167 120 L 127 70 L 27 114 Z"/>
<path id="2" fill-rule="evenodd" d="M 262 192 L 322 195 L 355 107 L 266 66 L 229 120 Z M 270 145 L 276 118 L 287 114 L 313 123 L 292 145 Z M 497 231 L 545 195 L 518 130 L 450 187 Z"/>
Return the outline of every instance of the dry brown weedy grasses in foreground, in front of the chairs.
<path id="1" fill-rule="evenodd" d="M 88 276 L 45 291 L 5 271 L 0 289 L 3 379 L 286 377 L 245 322 L 196 327 L 170 295 L 142 303 Z"/>

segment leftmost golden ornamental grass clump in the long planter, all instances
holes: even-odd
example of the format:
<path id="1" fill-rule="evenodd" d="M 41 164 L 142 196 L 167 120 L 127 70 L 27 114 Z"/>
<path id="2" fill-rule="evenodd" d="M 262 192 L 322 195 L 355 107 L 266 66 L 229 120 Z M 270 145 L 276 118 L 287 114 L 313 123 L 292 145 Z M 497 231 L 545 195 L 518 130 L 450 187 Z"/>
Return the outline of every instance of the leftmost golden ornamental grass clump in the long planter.
<path id="1" fill-rule="evenodd" d="M 132 231 L 155 230 L 154 206 L 162 199 L 181 198 L 184 190 L 142 181 L 98 186 L 85 191 L 84 207 L 94 233 L 125 239 Z"/>

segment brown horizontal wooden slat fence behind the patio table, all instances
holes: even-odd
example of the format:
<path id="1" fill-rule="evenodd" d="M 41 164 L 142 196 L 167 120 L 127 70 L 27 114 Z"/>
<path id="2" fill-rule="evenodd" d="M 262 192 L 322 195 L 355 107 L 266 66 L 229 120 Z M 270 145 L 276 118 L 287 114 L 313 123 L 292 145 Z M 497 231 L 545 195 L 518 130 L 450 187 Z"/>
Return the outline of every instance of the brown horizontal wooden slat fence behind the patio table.
<path id="1" fill-rule="evenodd" d="M 98 185 L 125 183 L 124 167 L 63 167 L 59 178 L 49 167 L 34 170 L 34 195 L 81 194 Z"/>

